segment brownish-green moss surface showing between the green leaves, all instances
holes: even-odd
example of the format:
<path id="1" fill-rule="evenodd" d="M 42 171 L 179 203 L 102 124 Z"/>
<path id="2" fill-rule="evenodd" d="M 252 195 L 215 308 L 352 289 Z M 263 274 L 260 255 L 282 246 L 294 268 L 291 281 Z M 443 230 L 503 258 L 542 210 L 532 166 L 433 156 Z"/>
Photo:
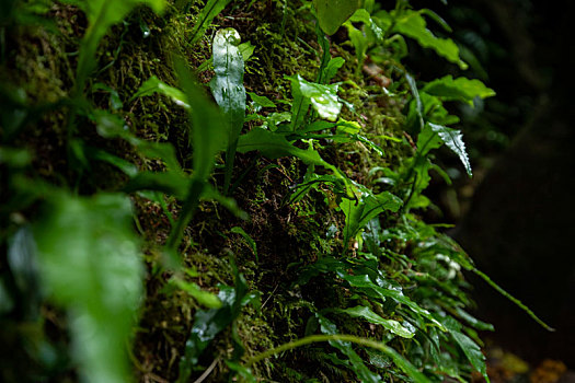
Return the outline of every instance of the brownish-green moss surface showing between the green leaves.
<path id="1" fill-rule="evenodd" d="M 253 56 L 245 63 L 246 90 L 276 102 L 275 112 L 287 112 L 291 93 L 289 80 L 285 77 L 299 73 L 313 81 L 320 67 L 321 48 L 310 7 L 308 1 L 232 1 L 194 46 L 188 44 L 188 38 L 200 9 L 199 2 L 194 2 L 189 12 L 184 13 L 170 4 L 162 16 L 138 8 L 127 20 L 115 25 L 101 43 L 95 58 L 97 69 L 91 73 L 87 102 L 96 109 L 110 109 L 123 118 L 127 129 L 138 138 L 171 143 L 182 167 L 189 171 L 193 151 L 185 109 L 160 94 L 133 100 L 137 89 L 153 76 L 176 86 L 174 55 L 185 57 L 191 68 L 203 68 L 196 74 L 203 84 L 207 84 L 214 76 L 209 65 L 205 65 L 211 57 L 211 35 L 216 28 L 234 27 L 242 40 L 255 46 Z M 122 190 L 127 177 L 116 167 L 88 160 L 74 167 L 69 161 L 66 131 L 69 121 L 66 116 L 71 106 L 58 102 L 72 92 L 78 42 L 85 33 L 87 21 L 78 9 L 60 3 L 51 5 L 49 16 L 56 22 L 55 30 L 42 26 L 5 28 L 8 43 L 2 46 L 7 53 L 1 66 L 2 82 L 23 92 L 28 103 L 48 108 L 46 113 L 31 117 L 14 142 L 34 153 L 34 172 L 53 185 L 69 187 L 80 195 Z M 331 42 L 332 56 L 346 60 L 334 81 L 341 82 L 340 96 L 353 105 L 353 111 L 344 108 L 342 117 L 357 121 L 382 149 L 382 154 L 359 141 L 335 144 L 319 141 L 315 149 L 349 179 L 371 185 L 380 192 L 384 188 L 375 182 L 378 173 L 370 170 L 399 170 L 413 155 L 409 144 L 411 138 L 403 132 L 410 94 L 407 88 L 401 85 L 394 90 L 396 95 L 390 96 L 382 89 L 380 79 L 357 70 L 353 50 L 349 43 L 338 44 L 336 38 Z M 386 77 L 386 81 L 400 80 L 394 78 L 396 74 L 392 68 L 393 62 L 381 65 L 380 76 Z M 91 147 L 127 160 L 140 171 L 165 167 L 160 160 L 141 155 L 123 140 L 100 137 L 89 114 L 79 114 L 76 118 L 77 137 Z M 244 130 L 256 125 L 249 121 Z M 218 165 L 222 165 L 222 160 L 217 160 Z M 338 207 L 341 197 L 329 185 L 322 184 L 308 197 L 295 204 L 288 202 L 307 171 L 308 167 L 297 159 L 269 160 L 254 152 L 238 154 L 233 173 L 238 184 L 232 196 L 250 219 L 242 221 L 220 205 L 204 201 L 186 228 L 179 248 L 183 267 L 194 271 L 184 277 L 186 281 L 196 283 L 204 291 L 217 292 L 219 285 L 233 286 L 232 264 L 235 264 L 245 276 L 250 291 L 258 294 L 261 306 L 246 305 L 234 324 L 245 348 L 242 361 L 303 337 L 313 312 L 343 306 L 344 302 L 357 299 L 352 291 L 340 288 L 341 280 L 325 276 L 314 278 L 304 288 L 294 285 L 302 267 L 347 251 L 342 243 L 345 217 Z M 221 185 L 222 179 L 223 171 L 219 166 L 210 181 Z M 170 235 L 171 220 L 177 219 L 181 212 L 181 204 L 174 197 L 161 198 L 164 204 L 140 194 L 131 196 L 134 225 L 142 239 L 147 271 L 145 300 L 130 350 L 134 372 L 140 382 L 177 379 L 194 315 L 204 309 L 192 295 L 171 283 L 181 276 L 162 266 L 161 246 Z M 31 209 L 30 216 L 34 213 Z M 383 228 L 394 228 L 398 216 L 383 214 L 381 222 Z M 253 239 L 256 253 L 245 239 L 231 231 L 234 227 L 241 227 Z M 393 241 L 390 241 L 389 248 L 398 253 L 410 255 L 410 246 L 415 246 Z M 348 254 L 352 259 L 358 257 L 359 244 L 355 245 Z M 404 270 L 395 269 L 394 262 L 382 264 L 390 275 L 396 272 L 400 275 L 398 279 L 402 277 Z M 383 315 L 383 309 L 377 306 L 376 310 Z M 45 310 L 50 315 L 45 317 L 41 327 L 54 333 L 54 338 L 65 345 L 68 339 L 62 314 L 49 307 Z M 390 316 L 400 317 L 395 313 Z M 343 333 L 382 337 L 383 330 L 367 322 L 358 326 L 357 321 L 347 321 L 345 316 L 336 322 Z M 194 370 L 196 378 L 209 365 L 215 365 L 204 381 L 228 379 L 230 370 L 225 360 L 232 355 L 231 332 L 227 328 L 220 333 L 203 352 Z M 398 341 L 398 346 L 403 344 Z M 368 356 L 360 352 L 367 360 Z M 335 349 L 313 345 L 255 364 L 252 371 L 262 381 L 271 382 L 356 381 L 357 376 L 346 369 L 345 363 L 337 367 L 342 363 L 338 357 Z M 50 378 L 76 380 L 73 367 L 60 364 Z"/>

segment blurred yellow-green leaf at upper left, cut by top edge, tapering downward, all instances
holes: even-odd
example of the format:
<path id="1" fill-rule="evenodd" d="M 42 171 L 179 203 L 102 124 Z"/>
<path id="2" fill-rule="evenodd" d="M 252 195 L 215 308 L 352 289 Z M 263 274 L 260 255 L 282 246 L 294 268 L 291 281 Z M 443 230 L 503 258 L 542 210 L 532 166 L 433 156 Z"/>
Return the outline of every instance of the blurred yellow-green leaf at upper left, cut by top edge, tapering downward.
<path id="1" fill-rule="evenodd" d="M 107 30 L 119 23 L 128 13 L 140 4 L 149 5 L 156 13 L 165 7 L 164 0 L 65 0 L 78 4 L 88 18 L 88 30 L 80 44 L 80 55 L 76 76 L 77 92 L 83 92 L 84 83 L 97 62 L 97 45 Z"/>

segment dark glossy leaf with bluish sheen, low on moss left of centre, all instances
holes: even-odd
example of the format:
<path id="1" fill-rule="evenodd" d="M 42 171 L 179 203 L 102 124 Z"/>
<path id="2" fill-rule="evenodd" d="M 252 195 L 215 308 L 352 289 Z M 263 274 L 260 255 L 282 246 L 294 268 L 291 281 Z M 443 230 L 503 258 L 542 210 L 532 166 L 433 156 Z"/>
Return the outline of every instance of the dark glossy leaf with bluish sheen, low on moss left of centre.
<path id="1" fill-rule="evenodd" d="M 192 369 L 197 364 L 198 358 L 216 335 L 228 327 L 240 315 L 244 298 L 248 293 L 245 278 L 234 269 L 235 286 L 233 288 L 221 286 L 218 294 L 221 307 L 208 311 L 197 311 L 194 325 L 186 341 L 184 356 L 180 360 L 180 376 L 177 382 L 189 380 Z"/>

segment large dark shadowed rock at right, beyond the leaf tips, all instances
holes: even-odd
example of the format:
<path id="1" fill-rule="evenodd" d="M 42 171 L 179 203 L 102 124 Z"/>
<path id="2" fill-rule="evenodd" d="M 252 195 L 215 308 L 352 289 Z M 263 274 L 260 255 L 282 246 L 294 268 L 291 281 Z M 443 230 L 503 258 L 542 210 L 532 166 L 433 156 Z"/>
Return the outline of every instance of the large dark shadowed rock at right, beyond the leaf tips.
<path id="1" fill-rule="evenodd" d="M 552 94 L 560 94 L 553 92 Z M 540 105 L 478 188 L 457 236 L 502 287 L 556 328 L 548 333 L 476 281 L 476 300 L 495 339 L 524 358 L 575 367 L 575 125 L 554 97 Z"/>

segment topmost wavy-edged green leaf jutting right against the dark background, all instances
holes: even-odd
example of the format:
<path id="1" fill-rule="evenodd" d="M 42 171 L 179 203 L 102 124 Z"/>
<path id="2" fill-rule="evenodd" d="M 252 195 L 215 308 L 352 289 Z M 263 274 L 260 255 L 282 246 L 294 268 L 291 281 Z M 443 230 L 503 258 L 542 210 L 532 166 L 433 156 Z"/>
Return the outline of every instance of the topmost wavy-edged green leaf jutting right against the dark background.
<path id="1" fill-rule="evenodd" d="M 439 56 L 457 63 L 461 69 L 467 69 L 468 65 L 459 57 L 459 48 L 449 38 L 436 37 L 427 27 L 425 19 L 417 11 L 406 10 L 399 16 L 394 15 L 395 24 L 393 30 L 407 37 L 414 38 L 421 46 L 434 49 Z"/>

